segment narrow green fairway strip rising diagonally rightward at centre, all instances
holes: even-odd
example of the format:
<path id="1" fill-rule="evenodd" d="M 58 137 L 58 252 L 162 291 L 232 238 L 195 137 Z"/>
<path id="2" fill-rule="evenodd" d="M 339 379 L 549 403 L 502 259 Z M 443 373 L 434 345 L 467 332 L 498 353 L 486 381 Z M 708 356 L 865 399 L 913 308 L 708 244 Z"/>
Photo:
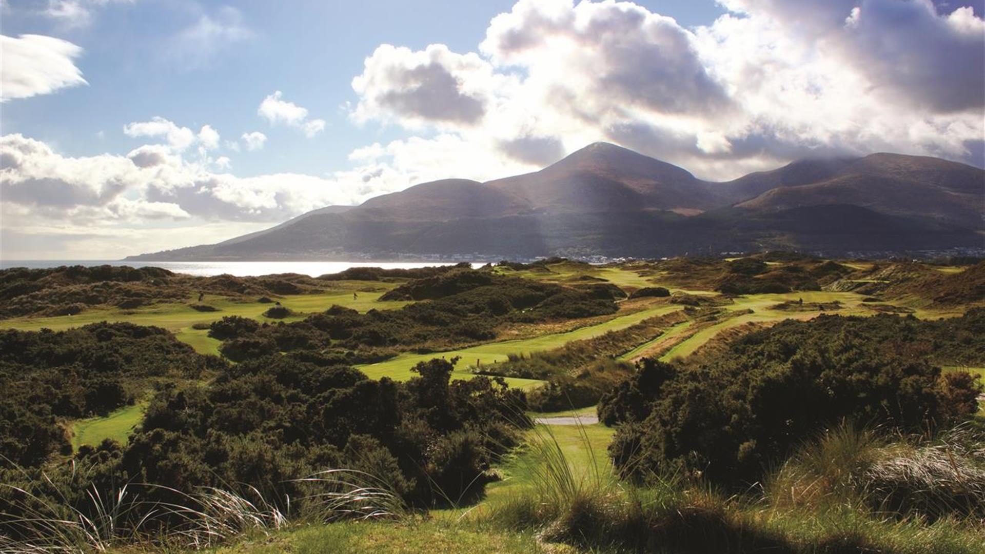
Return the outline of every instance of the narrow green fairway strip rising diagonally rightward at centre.
<path id="1" fill-rule="evenodd" d="M 357 366 L 357 368 L 372 379 L 388 377 L 397 381 L 406 381 L 414 376 L 414 374 L 411 373 L 411 368 L 420 362 L 427 362 L 427 360 L 432 358 L 444 357 L 450 359 L 455 356 L 461 356 L 462 360 L 459 362 L 458 371 L 456 371 L 455 374 L 457 374 L 456 377 L 460 379 L 466 379 L 467 377 L 471 377 L 472 374 L 469 372 L 469 368 L 474 367 L 477 361 L 482 364 L 489 365 L 506 360 L 506 357 L 509 354 L 530 354 L 531 352 L 552 350 L 554 348 L 564 346 L 564 344 L 572 340 L 593 338 L 608 331 L 624 329 L 625 327 L 636 324 L 647 317 L 676 312 L 678 310 L 681 310 L 681 307 L 674 305 L 661 305 L 655 308 L 642 310 L 640 312 L 620 315 L 603 323 L 587 325 L 564 333 L 546 334 L 529 339 L 505 340 L 501 342 L 481 344 L 479 346 L 471 346 L 450 352 L 438 352 L 432 354 L 402 354 L 385 362 L 366 364 L 363 366 Z"/>

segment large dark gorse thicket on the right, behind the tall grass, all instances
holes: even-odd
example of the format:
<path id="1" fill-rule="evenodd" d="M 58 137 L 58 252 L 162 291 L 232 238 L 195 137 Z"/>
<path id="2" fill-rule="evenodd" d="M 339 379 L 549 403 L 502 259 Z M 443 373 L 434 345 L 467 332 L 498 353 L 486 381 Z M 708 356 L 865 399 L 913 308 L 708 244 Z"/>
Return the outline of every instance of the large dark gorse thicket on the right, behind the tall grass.
<path id="1" fill-rule="evenodd" d="M 981 319 L 969 312 L 947 325 L 976 328 Z M 599 407 L 609 424 L 635 423 L 619 428 L 615 463 L 624 476 L 684 467 L 741 483 L 846 418 L 903 431 L 967 418 L 977 382 L 942 380 L 940 368 L 907 356 L 900 344 L 942 325 L 890 315 L 788 320 L 732 342 L 722 356 L 644 362 Z M 966 348 L 982 341 L 978 335 Z M 967 405 L 953 405 L 954 398 Z"/>

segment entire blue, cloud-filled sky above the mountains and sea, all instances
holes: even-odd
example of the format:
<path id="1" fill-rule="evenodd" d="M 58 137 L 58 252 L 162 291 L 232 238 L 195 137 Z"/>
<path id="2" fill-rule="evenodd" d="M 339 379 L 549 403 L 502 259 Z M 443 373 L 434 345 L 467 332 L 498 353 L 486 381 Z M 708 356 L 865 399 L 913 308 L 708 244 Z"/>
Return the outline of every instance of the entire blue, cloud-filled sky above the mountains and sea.
<path id="1" fill-rule="evenodd" d="M 985 0 L 0 0 L 0 257 L 219 242 L 608 141 L 985 164 Z"/>

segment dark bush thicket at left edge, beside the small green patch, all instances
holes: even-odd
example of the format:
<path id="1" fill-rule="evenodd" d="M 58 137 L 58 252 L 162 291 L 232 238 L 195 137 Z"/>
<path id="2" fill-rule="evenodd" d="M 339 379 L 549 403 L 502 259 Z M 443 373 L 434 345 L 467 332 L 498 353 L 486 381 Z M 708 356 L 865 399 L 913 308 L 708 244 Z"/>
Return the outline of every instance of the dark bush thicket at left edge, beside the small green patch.
<path id="1" fill-rule="evenodd" d="M 0 456 L 39 465 L 70 451 L 60 419 L 105 415 L 133 402 L 154 378 L 195 380 L 223 365 L 160 327 L 0 331 Z"/>

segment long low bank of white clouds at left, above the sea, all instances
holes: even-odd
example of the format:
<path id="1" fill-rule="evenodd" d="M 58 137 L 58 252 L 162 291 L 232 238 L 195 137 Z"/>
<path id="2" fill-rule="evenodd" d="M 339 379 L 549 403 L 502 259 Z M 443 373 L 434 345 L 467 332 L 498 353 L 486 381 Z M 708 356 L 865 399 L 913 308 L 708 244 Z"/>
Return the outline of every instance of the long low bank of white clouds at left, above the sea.
<path id="1" fill-rule="evenodd" d="M 230 159 L 189 161 L 167 144 L 143 145 L 126 156 L 70 158 L 20 134 L 0 137 L 0 164 L 4 225 L 17 229 L 48 220 L 96 227 L 168 218 L 279 223 L 406 186 L 405 175 L 395 172 L 365 178 L 373 170 L 368 165 L 329 176 L 214 173 L 211 168 L 228 170 Z"/>

